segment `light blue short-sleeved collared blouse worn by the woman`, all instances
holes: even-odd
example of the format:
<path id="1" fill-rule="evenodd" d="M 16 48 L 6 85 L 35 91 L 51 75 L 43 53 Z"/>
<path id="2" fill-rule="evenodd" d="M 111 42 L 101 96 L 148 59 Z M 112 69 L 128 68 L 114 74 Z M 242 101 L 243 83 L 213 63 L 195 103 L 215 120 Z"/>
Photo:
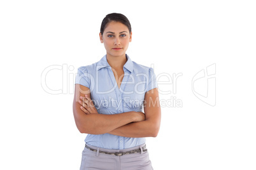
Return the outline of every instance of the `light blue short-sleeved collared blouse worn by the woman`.
<path id="1" fill-rule="evenodd" d="M 99 62 L 78 68 L 75 84 L 81 84 L 90 89 L 92 101 L 99 114 L 143 112 L 146 91 L 158 87 L 151 67 L 132 62 L 128 55 L 126 58 L 120 89 L 114 72 L 106 60 L 106 55 Z M 85 138 L 85 143 L 107 149 L 136 147 L 145 141 L 145 138 L 126 138 L 109 133 L 87 134 Z"/>

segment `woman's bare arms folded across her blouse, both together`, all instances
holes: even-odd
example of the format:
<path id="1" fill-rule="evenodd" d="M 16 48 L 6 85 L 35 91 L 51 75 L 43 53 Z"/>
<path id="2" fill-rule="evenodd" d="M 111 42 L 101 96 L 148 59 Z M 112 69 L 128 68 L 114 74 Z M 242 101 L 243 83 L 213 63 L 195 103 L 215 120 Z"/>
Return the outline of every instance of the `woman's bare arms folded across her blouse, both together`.
<path id="1" fill-rule="evenodd" d="M 73 114 L 80 133 L 110 133 L 130 138 L 155 137 L 160 128 L 160 103 L 157 88 L 145 94 L 143 112 L 122 114 L 98 114 L 92 100 L 90 89 L 76 84 L 73 101 Z"/>

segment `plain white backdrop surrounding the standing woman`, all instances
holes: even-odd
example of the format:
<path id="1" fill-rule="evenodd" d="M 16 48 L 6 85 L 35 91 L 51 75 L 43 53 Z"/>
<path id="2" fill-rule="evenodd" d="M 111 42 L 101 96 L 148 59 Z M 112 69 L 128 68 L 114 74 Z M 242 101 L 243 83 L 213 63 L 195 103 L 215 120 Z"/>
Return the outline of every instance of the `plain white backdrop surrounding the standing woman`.
<path id="1" fill-rule="evenodd" d="M 160 95 L 175 96 L 182 107 L 162 107 L 159 135 L 147 138 L 154 169 L 256 169 L 255 7 L 253 1 L 1 1 L 0 169 L 79 169 L 85 134 L 73 118 L 73 75 L 105 55 L 99 29 L 113 12 L 131 22 L 127 54 L 134 62 L 153 64 L 157 75 L 182 73 L 176 94 Z M 192 78 L 214 63 L 211 106 L 194 95 Z M 46 76 L 59 95 L 41 86 L 51 65 L 71 69 Z"/>

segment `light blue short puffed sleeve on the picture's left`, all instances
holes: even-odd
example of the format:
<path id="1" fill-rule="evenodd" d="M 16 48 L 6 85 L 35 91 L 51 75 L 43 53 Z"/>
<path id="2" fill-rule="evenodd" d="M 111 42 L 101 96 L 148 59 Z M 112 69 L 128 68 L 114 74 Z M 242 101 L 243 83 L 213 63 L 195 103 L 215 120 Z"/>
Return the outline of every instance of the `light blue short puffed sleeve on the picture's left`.
<path id="1" fill-rule="evenodd" d="M 75 84 L 81 84 L 87 88 L 90 88 L 90 74 L 88 73 L 86 67 L 78 68 Z"/>

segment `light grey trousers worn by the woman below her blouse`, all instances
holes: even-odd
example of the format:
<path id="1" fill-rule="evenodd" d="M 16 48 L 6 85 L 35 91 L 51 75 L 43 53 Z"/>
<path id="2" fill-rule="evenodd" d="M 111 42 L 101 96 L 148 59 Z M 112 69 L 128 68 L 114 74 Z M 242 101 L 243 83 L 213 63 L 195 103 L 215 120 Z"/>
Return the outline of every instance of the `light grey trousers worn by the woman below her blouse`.
<path id="1" fill-rule="evenodd" d="M 104 152 L 127 152 L 142 148 L 145 146 L 123 149 L 123 150 L 108 150 L 87 145 L 90 148 L 101 150 Z M 80 170 L 153 170 L 151 161 L 148 157 L 148 152 L 128 154 L 122 156 L 101 154 L 84 148 L 82 152 L 82 162 Z"/>

